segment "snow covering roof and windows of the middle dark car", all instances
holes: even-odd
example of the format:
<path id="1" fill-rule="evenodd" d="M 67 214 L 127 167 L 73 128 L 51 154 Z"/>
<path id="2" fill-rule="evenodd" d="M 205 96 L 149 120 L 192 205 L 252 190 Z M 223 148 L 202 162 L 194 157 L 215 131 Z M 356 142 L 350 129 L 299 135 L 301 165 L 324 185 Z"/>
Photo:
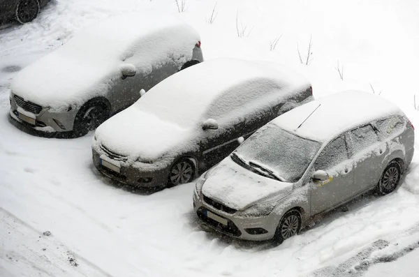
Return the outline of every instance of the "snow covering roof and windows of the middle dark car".
<path id="1" fill-rule="evenodd" d="M 171 76 L 134 106 L 186 127 L 227 110 L 252 109 L 245 106 L 270 95 L 278 98 L 279 91 L 285 96 L 309 86 L 304 76 L 276 63 L 219 58 Z"/>

